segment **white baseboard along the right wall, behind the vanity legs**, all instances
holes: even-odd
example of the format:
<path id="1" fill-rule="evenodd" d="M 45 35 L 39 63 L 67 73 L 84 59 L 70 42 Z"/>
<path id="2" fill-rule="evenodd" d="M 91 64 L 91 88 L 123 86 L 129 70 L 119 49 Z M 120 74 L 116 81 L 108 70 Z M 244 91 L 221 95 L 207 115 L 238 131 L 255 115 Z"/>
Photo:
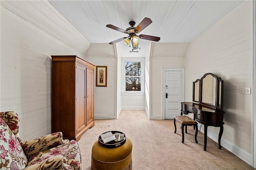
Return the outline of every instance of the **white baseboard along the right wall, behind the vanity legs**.
<path id="1" fill-rule="evenodd" d="M 198 130 L 204 133 L 204 126 L 202 124 L 198 124 Z M 219 134 L 216 134 L 212 132 L 211 130 L 207 130 L 207 136 L 218 143 Z M 220 144 L 222 147 L 226 148 L 228 151 L 232 152 L 238 158 L 244 160 L 246 163 L 248 163 L 250 166 L 252 166 L 252 154 L 248 153 L 247 151 L 243 150 L 239 146 L 236 146 L 232 143 L 230 143 L 225 138 L 221 138 Z"/>

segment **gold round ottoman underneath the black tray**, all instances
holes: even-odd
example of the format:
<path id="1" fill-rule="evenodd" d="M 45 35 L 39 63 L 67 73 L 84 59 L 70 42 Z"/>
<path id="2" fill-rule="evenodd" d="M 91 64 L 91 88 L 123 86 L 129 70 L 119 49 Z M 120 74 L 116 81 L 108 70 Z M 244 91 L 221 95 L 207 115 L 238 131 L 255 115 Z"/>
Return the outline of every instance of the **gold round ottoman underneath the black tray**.
<path id="1" fill-rule="evenodd" d="M 98 140 L 92 146 L 92 170 L 132 170 L 132 141 L 117 148 L 104 148 Z"/>

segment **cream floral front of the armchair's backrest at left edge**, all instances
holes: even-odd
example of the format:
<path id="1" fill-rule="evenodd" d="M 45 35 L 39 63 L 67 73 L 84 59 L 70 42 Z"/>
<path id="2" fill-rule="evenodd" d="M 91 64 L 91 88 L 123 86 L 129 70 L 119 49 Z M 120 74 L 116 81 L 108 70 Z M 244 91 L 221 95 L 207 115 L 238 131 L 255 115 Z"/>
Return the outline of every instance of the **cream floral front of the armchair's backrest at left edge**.
<path id="1" fill-rule="evenodd" d="M 19 170 L 26 167 L 28 159 L 12 130 L 0 118 L 0 169 Z"/>

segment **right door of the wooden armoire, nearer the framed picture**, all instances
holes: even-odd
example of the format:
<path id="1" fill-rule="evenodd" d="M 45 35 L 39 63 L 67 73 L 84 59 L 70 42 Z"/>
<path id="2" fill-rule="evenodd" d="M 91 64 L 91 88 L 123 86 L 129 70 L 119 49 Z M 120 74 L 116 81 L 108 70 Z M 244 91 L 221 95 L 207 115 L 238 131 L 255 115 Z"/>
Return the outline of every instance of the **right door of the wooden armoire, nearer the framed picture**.
<path id="1" fill-rule="evenodd" d="M 86 125 L 94 121 L 94 70 L 86 68 Z"/>

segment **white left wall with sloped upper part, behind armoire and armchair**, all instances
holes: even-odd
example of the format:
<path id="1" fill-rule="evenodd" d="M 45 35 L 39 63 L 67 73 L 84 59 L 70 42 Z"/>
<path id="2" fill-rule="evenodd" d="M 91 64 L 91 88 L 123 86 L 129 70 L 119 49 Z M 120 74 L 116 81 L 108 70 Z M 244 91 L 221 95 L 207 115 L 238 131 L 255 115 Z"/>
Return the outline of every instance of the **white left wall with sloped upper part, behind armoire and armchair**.
<path id="1" fill-rule="evenodd" d="M 85 58 L 90 43 L 48 1 L 0 1 L 0 111 L 20 117 L 23 140 L 51 132 L 50 55 Z"/>

